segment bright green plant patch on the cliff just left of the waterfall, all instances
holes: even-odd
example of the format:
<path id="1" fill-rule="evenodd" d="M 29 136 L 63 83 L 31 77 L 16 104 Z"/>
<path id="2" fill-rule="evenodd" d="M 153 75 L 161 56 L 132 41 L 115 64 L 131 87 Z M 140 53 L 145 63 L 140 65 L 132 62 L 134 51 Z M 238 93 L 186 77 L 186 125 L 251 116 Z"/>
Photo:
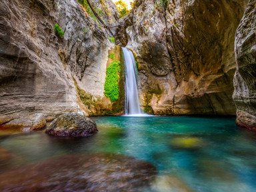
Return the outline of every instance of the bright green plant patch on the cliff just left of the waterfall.
<path id="1" fill-rule="evenodd" d="M 117 72 L 121 71 L 120 61 L 114 60 L 111 65 L 107 67 L 107 76 L 104 85 L 104 94 L 114 102 L 119 98 L 119 76 Z"/>

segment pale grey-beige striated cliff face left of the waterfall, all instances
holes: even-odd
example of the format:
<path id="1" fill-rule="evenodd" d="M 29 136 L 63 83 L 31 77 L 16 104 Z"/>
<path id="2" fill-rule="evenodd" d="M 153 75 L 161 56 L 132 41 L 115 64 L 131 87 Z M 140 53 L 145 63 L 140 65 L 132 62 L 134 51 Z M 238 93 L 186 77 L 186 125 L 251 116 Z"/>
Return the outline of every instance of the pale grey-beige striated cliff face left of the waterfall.
<path id="1" fill-rule="evenodd" d="M 64 37 L 55 35 L 55 24 Z M 110 47 L 105 29 L 76 0 L 1 1 L 0 124 L 35 112 L 47 119 L 88 115 L 73 79 L 91 94 L 91 103 L 103 98 Z"/>

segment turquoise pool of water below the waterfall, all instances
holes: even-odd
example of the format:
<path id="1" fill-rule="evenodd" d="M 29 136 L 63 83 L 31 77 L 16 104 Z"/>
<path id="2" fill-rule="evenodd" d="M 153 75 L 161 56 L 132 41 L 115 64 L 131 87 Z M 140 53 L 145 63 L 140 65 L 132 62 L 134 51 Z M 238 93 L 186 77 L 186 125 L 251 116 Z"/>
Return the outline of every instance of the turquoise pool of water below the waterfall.
<path id="1" fill-rule="evenodd" d="M 71 153 L 111 152 L 149 161 L 157 179 L 147 191 L 256 191 L 256 134 L 235 118 L 97 117 L 90 138 L 54 138 L 43 132 L 0 138 L 13 153 L 1 169 Z"/>

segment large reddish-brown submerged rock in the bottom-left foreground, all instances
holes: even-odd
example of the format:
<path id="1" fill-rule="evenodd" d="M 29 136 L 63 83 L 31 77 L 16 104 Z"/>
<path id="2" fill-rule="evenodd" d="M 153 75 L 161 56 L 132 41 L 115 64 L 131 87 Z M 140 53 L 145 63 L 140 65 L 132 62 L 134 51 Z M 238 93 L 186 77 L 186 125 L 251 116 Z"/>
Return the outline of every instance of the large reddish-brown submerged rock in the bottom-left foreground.
<path id="1" fill-rule="evenodd" d="M 125 155 L 67 155 L 0 174 L 3 191 L 142 191 L 155 177 L 150 163 Z"/>

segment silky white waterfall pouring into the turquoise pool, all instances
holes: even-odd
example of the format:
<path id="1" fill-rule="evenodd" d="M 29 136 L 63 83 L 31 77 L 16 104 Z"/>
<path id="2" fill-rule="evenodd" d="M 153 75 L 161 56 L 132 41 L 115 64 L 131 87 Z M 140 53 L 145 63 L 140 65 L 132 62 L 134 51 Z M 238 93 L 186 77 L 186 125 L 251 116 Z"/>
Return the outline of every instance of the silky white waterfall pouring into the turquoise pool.
<path id="1" fill-rule="evenodd" d="M 125 115 L 143 115 L 139 107 L 135 58 L 131 50 L 124 47 L 122 50 L 125 62 Z"/>

